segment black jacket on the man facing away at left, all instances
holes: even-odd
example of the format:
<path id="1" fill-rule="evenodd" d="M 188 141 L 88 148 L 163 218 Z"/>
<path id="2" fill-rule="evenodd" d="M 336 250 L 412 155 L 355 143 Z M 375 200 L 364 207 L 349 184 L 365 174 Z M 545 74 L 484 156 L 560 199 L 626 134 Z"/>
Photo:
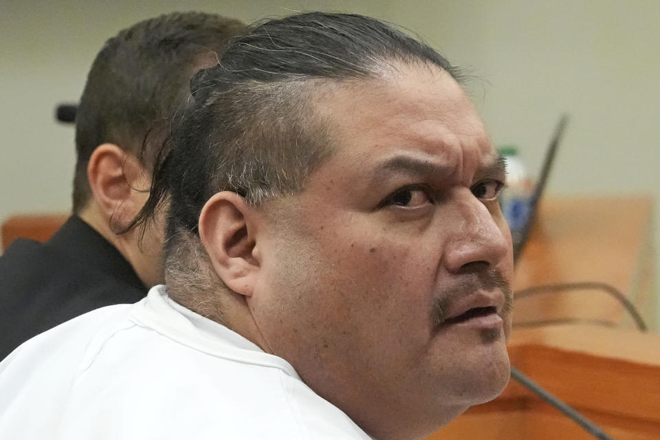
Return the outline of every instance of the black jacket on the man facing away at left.
<path id="1" fill-rule="evenodd" d="M 0 256 L 0 360 L 32 336 L 98 307 L 135 303 L 147 290 L 78 217 L 46 243 L 18 239 Z"/>

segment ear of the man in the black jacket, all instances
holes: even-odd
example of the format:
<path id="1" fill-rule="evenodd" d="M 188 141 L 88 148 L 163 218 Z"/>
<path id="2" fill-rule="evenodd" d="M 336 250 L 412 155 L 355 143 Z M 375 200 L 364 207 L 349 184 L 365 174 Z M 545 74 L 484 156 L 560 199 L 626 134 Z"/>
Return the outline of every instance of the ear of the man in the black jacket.
<path id="1" fill-rule="evenodd" d="M 148 179 L 137 158 L 115 144 L 101 144 L 89 157 L 87 180 L 96 205 L 121 230 L 148 197 Z"/>

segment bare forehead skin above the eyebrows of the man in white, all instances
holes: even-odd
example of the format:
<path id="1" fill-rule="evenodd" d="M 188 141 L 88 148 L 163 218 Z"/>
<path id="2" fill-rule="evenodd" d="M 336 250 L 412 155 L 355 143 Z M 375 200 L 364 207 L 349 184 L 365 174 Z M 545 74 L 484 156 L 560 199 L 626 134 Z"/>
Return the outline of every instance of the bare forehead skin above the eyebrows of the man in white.
<path id="1" fill-rule="evenodd" d="M 333 134 L 349 137 L 349 142 L 360 133 L 388 131 L 408 132 L 430 144 L 451 142 L 456 135 L 480 142 L 485 137 L 467 94 L 439 67 L 404 66 L 379 78 L 318 86 L 316 112 Z"/>

